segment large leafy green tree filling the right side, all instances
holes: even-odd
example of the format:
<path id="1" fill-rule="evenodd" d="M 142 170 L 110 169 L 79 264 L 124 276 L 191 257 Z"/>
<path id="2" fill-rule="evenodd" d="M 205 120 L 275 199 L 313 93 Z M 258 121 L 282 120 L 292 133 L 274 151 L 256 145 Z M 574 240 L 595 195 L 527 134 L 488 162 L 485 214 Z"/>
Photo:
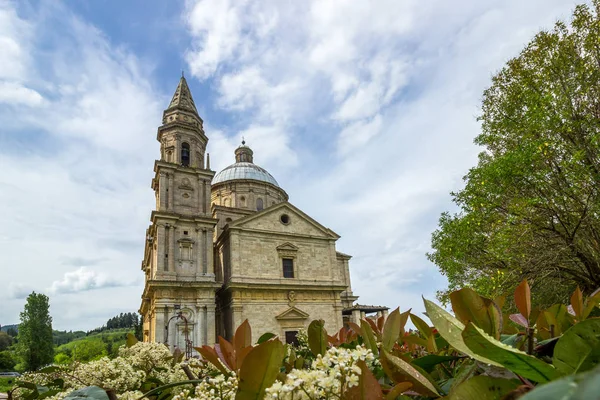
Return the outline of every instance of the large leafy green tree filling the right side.
<path id="1" fill-rule="evenodd" d="M 428 254 L 449 291 L 494 296 L 527 278 L 544 305 L 600 287 L 599 14 L 600 0 L 576 7 L 484 92 L 484 150 Z"/>

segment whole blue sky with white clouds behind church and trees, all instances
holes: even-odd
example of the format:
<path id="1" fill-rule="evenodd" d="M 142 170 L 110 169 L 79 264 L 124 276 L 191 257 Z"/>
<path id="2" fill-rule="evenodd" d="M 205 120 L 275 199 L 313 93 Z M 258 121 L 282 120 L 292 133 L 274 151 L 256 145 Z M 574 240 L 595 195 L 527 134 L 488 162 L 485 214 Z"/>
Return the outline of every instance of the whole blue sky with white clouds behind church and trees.
<path id="1" fill-rule="evenodd" d="M 185 70 L 214 170 L 241 137 L 339 233 L 363 304 L 412 307 L 476 163 L 482 91 L 571 0 L 0 0 L 0 324 L 136 311 L 156 128 Z"/>

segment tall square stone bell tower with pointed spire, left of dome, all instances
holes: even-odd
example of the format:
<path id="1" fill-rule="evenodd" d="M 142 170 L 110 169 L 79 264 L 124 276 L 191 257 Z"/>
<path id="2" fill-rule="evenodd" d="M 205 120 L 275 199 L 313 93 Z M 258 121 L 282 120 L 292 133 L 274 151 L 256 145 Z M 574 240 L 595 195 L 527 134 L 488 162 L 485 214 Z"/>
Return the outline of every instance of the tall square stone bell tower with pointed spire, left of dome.
<path id="1" fill-rule="evenodd" d="M 163 112 L 152 189 L 156 207 L 146 231 L 140 313 L 144 341 L 191 349 L 215 343 L 214 171 L 205 162 L 208 138 L 185 78 Z"/>

